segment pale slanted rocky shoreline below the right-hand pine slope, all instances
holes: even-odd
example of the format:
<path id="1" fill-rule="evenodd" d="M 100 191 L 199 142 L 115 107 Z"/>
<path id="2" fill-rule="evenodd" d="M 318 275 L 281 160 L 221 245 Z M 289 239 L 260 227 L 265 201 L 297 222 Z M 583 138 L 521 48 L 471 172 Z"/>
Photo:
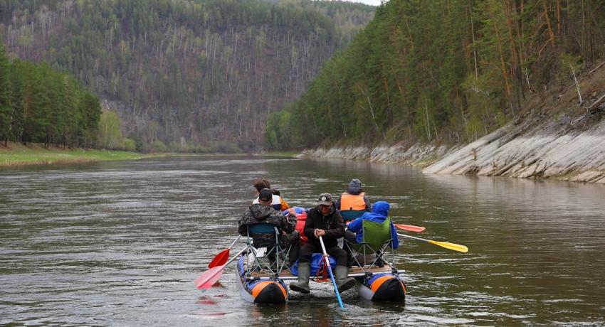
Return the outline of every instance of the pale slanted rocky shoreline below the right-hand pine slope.
<path id="1" fill-rule="evenodd" d="M 604 106 L 584 114 L 526 114 L 470 144 L 334 147 L 302 156 L 408 164 L 423 173 L 553 178 L 605 184 Z"/>

